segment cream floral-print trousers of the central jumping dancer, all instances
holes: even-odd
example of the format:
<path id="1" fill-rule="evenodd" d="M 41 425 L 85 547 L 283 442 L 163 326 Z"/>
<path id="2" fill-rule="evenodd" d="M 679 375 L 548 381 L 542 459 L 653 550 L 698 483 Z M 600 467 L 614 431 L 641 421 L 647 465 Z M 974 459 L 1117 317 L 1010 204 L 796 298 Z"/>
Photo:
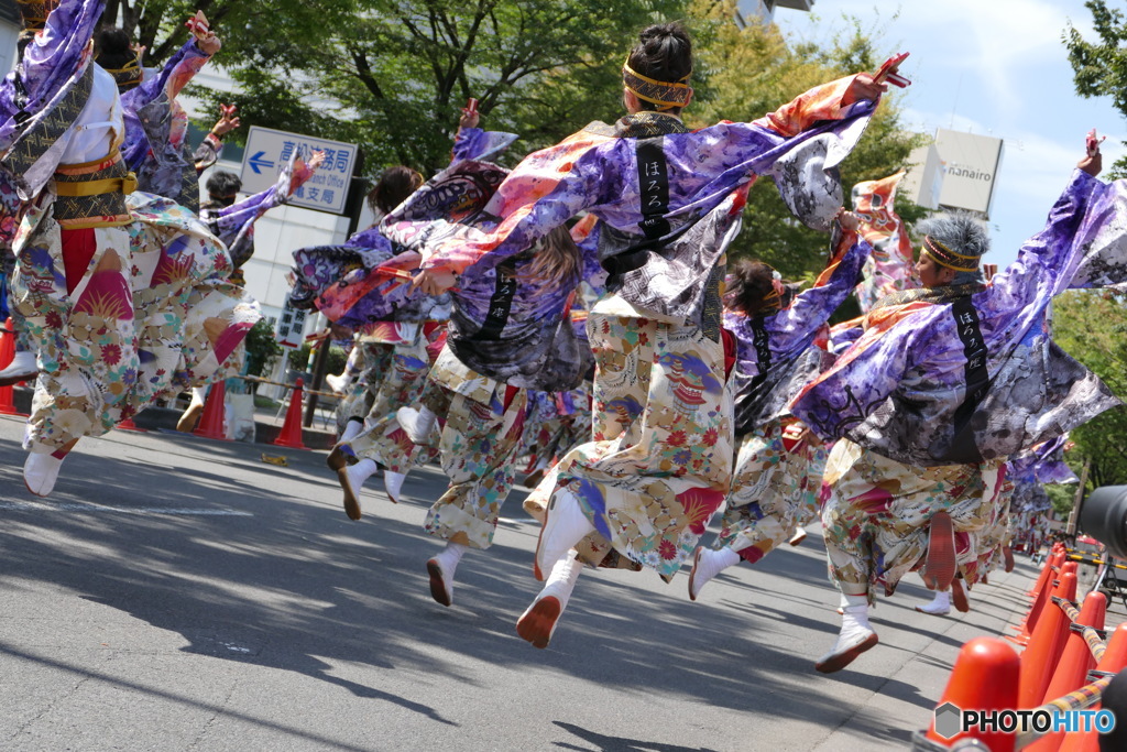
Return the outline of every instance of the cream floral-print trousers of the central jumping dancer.
<path id="1" fill-rule="evenodd" d="M 567 487 L 597 531 L 585 554 L 592 564 L 613 547 L 669 578 L 731 481 L 731 393 L 716 375 L 724 347 L 698 327 L 609 316 L 601 304 L 587 334 L 593 441 L 568 452 L 525 508 L 539 514 Z"/>

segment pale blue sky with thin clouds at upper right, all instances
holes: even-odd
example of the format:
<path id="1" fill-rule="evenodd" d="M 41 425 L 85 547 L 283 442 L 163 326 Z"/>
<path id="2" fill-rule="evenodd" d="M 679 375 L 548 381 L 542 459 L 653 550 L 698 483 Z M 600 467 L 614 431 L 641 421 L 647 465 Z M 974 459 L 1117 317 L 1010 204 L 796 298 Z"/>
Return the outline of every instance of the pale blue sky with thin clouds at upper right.
<path id="1" fill-rule="evenodd" d="M 987 260 L 1008 265 L 1040 230 L 1090 129 L 1108 135 L 1106 166 L 1127 152 L 1127 124 L 1110 99 L 1084 99 L 1073 86 L 1062 34 L 1071 23 L 1094 39 L 1083 0 L 817 0 L 813 14 L 778 9 L 775 23 L 824 42 L 846 26 L 843 14 L 878 29 L 880 50 L 912 53 L 900 70 L 913 83 L 896 101 L 913 130 L 1004 140 Z"/>

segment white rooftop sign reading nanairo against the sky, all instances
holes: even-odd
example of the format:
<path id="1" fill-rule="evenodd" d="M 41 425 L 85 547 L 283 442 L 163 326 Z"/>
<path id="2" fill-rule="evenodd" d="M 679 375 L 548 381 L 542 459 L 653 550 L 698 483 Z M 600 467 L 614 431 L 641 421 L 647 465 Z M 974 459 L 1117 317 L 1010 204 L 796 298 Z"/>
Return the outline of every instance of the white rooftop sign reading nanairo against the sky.
<path id="1" fill-rule="evenodd" d="M 988 219 L 1002 165 L 1002 140 L 939 129 L 935 151 L 943 162 L 940 205 L 979 212 Z"/>

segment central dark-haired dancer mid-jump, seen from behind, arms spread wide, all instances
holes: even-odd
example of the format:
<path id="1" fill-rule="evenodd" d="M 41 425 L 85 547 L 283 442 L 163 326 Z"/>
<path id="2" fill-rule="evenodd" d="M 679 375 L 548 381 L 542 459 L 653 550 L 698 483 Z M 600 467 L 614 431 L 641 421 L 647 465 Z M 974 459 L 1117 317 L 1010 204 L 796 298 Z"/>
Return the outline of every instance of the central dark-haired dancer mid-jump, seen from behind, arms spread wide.
<path id="1" fill-rule="evenodd" d="M 534 572 L 548 585 L 517 631 L 539 647 L 574 586 L 570 549 L 588 534 L 597 537 L 593 561 L 613 547 L 666 578 L 695 549 L 731 483 L 720 283 L 746 191 L 771 172 L 792 211 L 828 229 L 840 186 L 818 168 L 849 152 L 884 88 L 855 76 L 756 123 L 689 132 L 680 116 L 692 98 L 691 73 L 682 27 L 645 29 L 622 69 L 625 117 L 531 154 L 472 227 L 424 244 L 416 283 L 440 292 L 471 267 L 523 253 L 579 212 L 602 220 L 600 256 L 612 292 L 588 320 L 594 441 L 565 457 L 529 499 L 547 510 Z M 398 219 L 384 220 L 393 237 Z"/>

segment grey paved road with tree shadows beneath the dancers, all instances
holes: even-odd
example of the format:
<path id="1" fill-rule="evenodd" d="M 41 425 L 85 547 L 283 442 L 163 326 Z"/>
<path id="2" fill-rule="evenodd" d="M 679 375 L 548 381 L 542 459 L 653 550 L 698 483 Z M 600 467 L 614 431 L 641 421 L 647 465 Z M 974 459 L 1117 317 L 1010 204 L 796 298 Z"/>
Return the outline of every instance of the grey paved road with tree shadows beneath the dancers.
<path id="1" fill-rule="evenodd" d="M 925 726 L 958 647 L 1023 604 L 1022 563 L 926 617 L 881 602 L 881 645 L 834 676 L 822 540 L 729 570 L 585 573 L 552 645 L 514 630 L 538 591 L 514 494 L 434 603 L 420 530 L 445 484 L 373 479 L 352 522 L 323 453 L 166 433 L 85 441 L 48 502 L 0 418 L 0 747 L 17 750 L 884 750 Z M 289 457 L 289 468 L 259 460 Z"/>

